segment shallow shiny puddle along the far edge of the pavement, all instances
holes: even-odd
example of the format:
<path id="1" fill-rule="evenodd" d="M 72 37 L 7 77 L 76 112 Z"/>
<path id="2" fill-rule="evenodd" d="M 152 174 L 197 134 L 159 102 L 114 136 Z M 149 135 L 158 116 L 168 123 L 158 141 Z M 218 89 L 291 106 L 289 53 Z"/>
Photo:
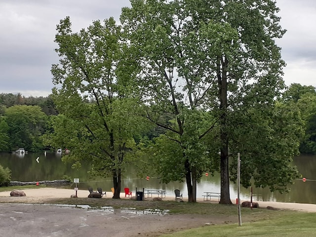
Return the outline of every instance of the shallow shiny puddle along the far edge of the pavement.
<path id="1" fill-rule="evenodd" d="M 89 211 L 104 212 L 105 214 L 113 213 L 127 213 L 132 215 L 167 215 L 170 210 L 160 210 L 160 209 L 144 209 L 137 210 L 133 207 L 122 207 L 120 209 L 114 209 L 112 206 L 102 206 L 102 207 L 91 207 L 89 205 L 70 205 L 70 204 L 43 204 L 51 206 L 63 206 L 63 207 L 73 207 L 73 208 L 82 208 Z"/>

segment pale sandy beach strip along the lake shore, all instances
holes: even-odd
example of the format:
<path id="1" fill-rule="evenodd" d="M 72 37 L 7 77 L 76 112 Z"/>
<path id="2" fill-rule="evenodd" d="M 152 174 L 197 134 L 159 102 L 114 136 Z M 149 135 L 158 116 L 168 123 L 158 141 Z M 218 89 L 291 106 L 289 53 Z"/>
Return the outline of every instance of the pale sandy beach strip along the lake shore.
<path id="1" fill-rule="evenodd" d="M 14 188 L 12 187 L 12 190 Z M 73 189 L 58 189 L 58 188 L 40 188 L 40 189 L 25 189 L 23 190 L 26 194 L 26 197 L 10 197 L 10 191 L 0 192 L 0 202 L 36 202 L 43 201 L 45 199 L 50 198 L 65 198 L 70 197 L 71 195 L 76 194 L 76 191 Z M 88 190 L 78 190 L 77 197 L 88 197 L 89 191 Z M 102 198 L 112 198 L 112 192 L 107 192 L 106 196 L 104 195 Z M 133 194 L 135 196 L 135 194 Z M 120 194 L 121 198 L 128 198 L 125 197 L 124 193 Z M 146 198 L 151 199 L 151 198 Z M 162 200 L 173 200 L 174 196 L 166 196 L 162 198 Z M 187 198 L 183 198 L 184 201 L 187 201 Z M 197 198 L 197 201 L 203 201 L 203 198 Z M 242 201 L 249 201 L 249 200 L 241 200 Z M 207 201 L 210 202 L 210 201 Z M 212 202 L 216 202 L 216 200 L 212 200 Z M 232 200 L 235 204 L 236 200 Z M 306 211 L 306 212 L 316 212 L 316 204 L 309 204 L 309 203 L 290 203 L 290 202 L 272 202 L 272 201 L 254 201 L 259 203 L 259 207 L 266 208 L 267 206 L 272 206 L 274 208 L 279 209 L 291 209 L 291 210 L 299 210 L 299 211 Z"/>

